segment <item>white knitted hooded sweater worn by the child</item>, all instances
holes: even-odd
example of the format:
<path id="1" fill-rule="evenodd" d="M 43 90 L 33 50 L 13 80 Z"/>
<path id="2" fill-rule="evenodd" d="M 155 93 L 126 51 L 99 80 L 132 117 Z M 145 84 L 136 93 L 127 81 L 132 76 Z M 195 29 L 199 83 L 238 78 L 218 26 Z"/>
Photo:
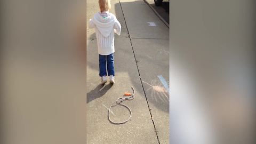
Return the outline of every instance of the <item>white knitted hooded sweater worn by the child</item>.
<path id="1" fill-rule="evenodd" d="M 101 13 L 95 13 L 90 19 L 89 28 L 95 28 L 95 34 L 100 55 L 109 55 L 115 52 L 114 35 L 121 34 L 121 24 L 115 15 L 109 12 L 107 17 L 102 17 Z"/>

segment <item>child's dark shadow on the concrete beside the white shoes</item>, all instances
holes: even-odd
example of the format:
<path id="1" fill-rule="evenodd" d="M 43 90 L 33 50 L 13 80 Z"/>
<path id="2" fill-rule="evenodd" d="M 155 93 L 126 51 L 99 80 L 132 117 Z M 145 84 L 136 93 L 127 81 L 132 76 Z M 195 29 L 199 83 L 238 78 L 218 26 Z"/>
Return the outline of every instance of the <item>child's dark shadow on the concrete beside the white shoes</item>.
<path id="1" fill-rule="evenodd" d="M 95 89 L 91 90 L 89 93 L 87 93 L 87 103 L 94 99 L 98 99 L 102 97 L 111 87 L 113 84 L 99 84 Z"/>

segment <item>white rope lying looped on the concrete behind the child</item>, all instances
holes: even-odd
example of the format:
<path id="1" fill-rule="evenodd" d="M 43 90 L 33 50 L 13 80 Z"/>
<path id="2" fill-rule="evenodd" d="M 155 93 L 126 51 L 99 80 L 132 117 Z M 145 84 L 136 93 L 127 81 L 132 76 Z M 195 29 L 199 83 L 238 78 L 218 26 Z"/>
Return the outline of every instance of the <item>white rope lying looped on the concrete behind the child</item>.
<path id="1" fill-rule="evenodd" d="M 134 91 L 133 87 L 132 87 L 132 90 L 133 90 L 133 94 L 131 94 L 131 96 L 118 98 L 118 99 L 117 99 L 116 101 L 114 101 L 114 102 L 112 103 L 112 105 L 109 107 L 109 109 L 108 109 L 108 120 L 109 120 L 111 123 L 113 123 L 113 124 L 124 124 L 124 123 L 128 122 L 129 119 L 131 118 L 131 116 L 132 116 L 132 111 L 131 111 L 131 109 L 130 109 L 128 106 L 124 105 L 122 102 L 125 101 L 125 100 L 133 100 L 133 99 L 134 99 L 134 93 L 135 93 L 135 91 Z M 130 116 L 129 116 L 128 119 L 126 119 L 126 120 L 123 121 L 123 122 L 114 122 L 114 121 L 112 121 L 112 120 L 110 119 L 110 109 L 111 109 L 111 107 L 113 106 L 114 103 L 116 103 L 117 105 L 124 106 L 124 107 L 126 107 L 127 109 L 129 109 L 129 111 L 130 111 Z"/>

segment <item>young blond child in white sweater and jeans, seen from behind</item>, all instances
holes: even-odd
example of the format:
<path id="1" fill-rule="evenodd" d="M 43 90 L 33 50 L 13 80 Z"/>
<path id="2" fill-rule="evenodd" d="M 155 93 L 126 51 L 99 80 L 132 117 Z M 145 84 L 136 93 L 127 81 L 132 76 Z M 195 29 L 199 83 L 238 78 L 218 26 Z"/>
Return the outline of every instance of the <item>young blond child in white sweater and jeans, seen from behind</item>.
<path id="1" fill-rule="evenodd" d="M 99 6 L 100 12 L 95 13 L 93 18 L 90 19 L 89 28 L 95 28 L 97 37 L 101 83 L 105 84 L 107 82 L 108 71 L 109 82 L 114 84 L 114 35 L 115 33 L 117 35 L 121 34 L 121 24 L 114 14 L 109 13 L 110 0 L 99 0 Z"/>

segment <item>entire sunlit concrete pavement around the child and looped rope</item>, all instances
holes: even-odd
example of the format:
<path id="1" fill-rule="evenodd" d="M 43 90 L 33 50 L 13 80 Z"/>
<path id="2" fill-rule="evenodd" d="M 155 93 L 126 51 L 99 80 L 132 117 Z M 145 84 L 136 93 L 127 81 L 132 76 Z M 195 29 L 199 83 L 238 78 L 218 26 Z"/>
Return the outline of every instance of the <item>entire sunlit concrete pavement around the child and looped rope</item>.
<path id="1" fill-rule="evenodd" d="M 87 29 L 87 143 L 169 143 L 169 95 L 163 85 L 169 79 L 169 29 L 144 1 L 112 0 L 111 7 L 122 25 L 121 36 L 115 36 L 114 85 L 100 84 L 97 39 L 94 29 Z M 87 2 L 87 21 L 98 11 L 98 1 Z M 132 92 L 131 86 L 135 99 L 124 102 L 131 120 L 111 124 L 108 107 Z M 112 111 L 115 121 L 129 117 L 123 107 Z"/>

